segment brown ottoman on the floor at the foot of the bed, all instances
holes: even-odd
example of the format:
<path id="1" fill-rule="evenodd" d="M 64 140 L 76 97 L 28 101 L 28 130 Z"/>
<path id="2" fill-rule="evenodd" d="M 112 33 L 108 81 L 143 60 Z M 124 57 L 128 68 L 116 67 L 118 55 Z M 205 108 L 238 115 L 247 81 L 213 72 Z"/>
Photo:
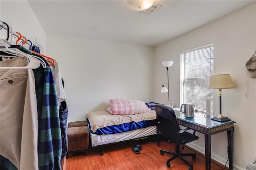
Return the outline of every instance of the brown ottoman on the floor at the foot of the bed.
<path id="1" fill-rule="evenodd" d="M 74 152 L 84 152 L 88 155 L 88 145 L 89 145 L 89 133 L 88 126 L 80 127 L 70 127 L 68 123 L 68 152 L 66 158 L 68 158 L 70 153 Z M 72 124 L 71 124 L 72 125 Z"/>

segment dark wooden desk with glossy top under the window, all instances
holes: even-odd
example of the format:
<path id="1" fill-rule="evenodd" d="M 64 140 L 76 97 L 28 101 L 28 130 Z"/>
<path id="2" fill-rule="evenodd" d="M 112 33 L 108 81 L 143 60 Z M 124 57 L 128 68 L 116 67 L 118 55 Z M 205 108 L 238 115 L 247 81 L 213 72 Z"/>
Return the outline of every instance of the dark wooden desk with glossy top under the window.
<path id="1" fill-rule="evenodd" d="M 205 146 L 205 169 L 211 169 L 211 144 L 212 134 L 227 131 L 228 137 L 228 158 L 229 158 L 229 169 L 234 169 L 234 148 L 233 148 L 233 132 L 234 132 L 234 121 L 217 122 L 210 120 L 212 116 L 204 115 L 202 113 L 195 113 L 193 119 L 184 117 L 184 113 L 175 111 L 178 123 L 184 127 L 192 128 L 200 133 L 204 134 L 204 146 Z"/>

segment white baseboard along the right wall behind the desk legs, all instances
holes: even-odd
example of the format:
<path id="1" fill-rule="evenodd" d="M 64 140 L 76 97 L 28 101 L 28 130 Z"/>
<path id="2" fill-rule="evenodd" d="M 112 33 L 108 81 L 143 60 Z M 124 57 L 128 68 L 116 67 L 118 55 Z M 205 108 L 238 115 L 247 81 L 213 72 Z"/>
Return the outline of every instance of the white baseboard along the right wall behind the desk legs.
<path id="1" fill-rule="evenodd" d="M 204 157 L 205 158 L 205 150 L 202 149 L 202 148 L 199 148 L 198 146 L 192 144 L 192 143 L 189 143 L 189 144 L 186 144 L 186 147 L 190 150 L 192 150 L 193 152 L 196 152 L 196 154 L 199 154 L 200 156 Z M 216 155 L 212 154 L 211 155 L 211 162 L 224 168 L 224 165 L 226 164 L 226 160 L 223 160 L 223 159 L 220 159 L 218 158 Z M 228 163 L 226 165 L 226 170 L 228 170 Z M 244 170 L 244 168 L 241 168 L 237 165 L 234 164 L 234 170 Z"/>

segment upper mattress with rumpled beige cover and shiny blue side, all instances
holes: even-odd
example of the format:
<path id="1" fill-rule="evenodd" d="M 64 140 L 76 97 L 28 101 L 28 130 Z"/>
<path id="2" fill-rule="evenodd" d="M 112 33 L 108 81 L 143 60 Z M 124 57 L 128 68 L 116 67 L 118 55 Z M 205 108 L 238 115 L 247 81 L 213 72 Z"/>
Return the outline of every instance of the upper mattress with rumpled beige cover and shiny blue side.
<path id="1" fill-rule="evenodd" d="M 116 134 L 157 125 L 156 112 L 135 115 L 111 115 L 108 111 L 96 111 L 86 115 L 91 134 Z"/>

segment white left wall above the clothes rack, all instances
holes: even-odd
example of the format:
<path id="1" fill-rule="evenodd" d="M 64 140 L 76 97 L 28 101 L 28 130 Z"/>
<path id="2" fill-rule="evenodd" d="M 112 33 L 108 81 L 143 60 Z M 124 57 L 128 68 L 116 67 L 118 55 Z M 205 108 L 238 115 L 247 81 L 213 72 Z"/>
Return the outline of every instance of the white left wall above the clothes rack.
<path id="1" fill-rule="evenodd" d="M 0 0 L 0 20 L 12 27 L 13 31 L 20 32 L 32 43 L 38 42 L 46 50 L 46 34 L 27 1 Z M 6 38 L 6 34 L 6 30 L 1 30 L 3 38 Z M 17 38 L 13 38 L 12 44 L 15 44 L 16 40 Z M 29 48 L 29 45 L 24 47 Z"/>

